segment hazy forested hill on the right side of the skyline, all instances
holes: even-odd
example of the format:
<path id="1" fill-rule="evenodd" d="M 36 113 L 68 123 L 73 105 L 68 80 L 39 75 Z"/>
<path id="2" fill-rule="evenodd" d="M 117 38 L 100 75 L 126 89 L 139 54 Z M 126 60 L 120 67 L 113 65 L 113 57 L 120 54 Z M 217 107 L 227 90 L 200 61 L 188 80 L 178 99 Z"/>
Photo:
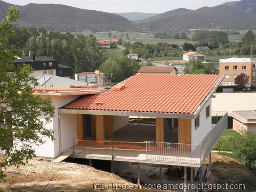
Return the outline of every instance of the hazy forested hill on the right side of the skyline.
<path id="1" fill-rule="evenodd" d="M 186 32 L 189 29 L 254 29 L 256 15 L 226 5 L 203 7 L 185 14 L 148 18 L 140 25 L 154 32 Z"/>

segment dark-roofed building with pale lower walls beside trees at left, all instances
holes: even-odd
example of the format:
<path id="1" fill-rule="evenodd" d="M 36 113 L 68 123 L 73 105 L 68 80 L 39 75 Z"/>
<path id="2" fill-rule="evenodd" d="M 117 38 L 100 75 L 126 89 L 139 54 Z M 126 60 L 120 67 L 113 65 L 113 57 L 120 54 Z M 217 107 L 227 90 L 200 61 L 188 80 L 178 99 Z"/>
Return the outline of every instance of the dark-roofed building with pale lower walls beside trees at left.
<path id="1" fill-rule="evenodd" d="M 52 59 L 46 56 L 37 57 L 35 54 L 30 54 L 30 56 L 17 58 L 17 60 L 13 63 L 14 65 L 22 65 L 23 63 L 29 64 L 34 70 L 31 76 L 35 77 L 44 74 L 50 74 L 71 78 L 74 75 L 71 67 L 60 65 L 56 59 Z"/>

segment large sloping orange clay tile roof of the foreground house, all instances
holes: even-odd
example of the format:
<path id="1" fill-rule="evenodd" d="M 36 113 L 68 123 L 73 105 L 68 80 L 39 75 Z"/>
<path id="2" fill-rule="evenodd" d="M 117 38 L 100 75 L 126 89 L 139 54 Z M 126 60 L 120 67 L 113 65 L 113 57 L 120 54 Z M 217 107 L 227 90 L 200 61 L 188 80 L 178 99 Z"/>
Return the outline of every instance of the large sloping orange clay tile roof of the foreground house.
<path id="1" fill-rule="evenodd" d="M 221 75 L 136 74 L 62 109 L 193 114 Z"/>

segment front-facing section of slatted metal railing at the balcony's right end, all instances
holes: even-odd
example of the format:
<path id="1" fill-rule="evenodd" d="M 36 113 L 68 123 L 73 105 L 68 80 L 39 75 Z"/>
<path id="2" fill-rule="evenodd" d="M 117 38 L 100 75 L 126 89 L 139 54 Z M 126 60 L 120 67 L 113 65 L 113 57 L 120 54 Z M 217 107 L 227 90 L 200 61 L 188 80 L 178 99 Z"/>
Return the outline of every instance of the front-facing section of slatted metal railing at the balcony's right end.
<path id="1" fill-rule="evenodd" d="M 146 160 L 200 164 L 199 145 L 146 141 L 146 148 Z"/>

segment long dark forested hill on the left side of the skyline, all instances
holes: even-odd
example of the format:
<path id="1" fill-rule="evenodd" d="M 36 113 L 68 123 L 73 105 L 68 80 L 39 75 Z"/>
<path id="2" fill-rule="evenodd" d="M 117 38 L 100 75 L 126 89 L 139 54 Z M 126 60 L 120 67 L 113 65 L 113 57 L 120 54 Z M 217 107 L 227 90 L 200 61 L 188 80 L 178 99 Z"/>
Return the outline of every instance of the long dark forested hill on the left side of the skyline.
<path id="1" fill-rule="evenodd" d="M 13 6 L 0 1 L 2 13 Z M 112 13 L 57 4 L 28 4 L 19 9 L 17 27 L 44 27 L 52 31 L 140 31 L 130 20 Z M 3 19 L 5 14 L 1 14 Z"/>

